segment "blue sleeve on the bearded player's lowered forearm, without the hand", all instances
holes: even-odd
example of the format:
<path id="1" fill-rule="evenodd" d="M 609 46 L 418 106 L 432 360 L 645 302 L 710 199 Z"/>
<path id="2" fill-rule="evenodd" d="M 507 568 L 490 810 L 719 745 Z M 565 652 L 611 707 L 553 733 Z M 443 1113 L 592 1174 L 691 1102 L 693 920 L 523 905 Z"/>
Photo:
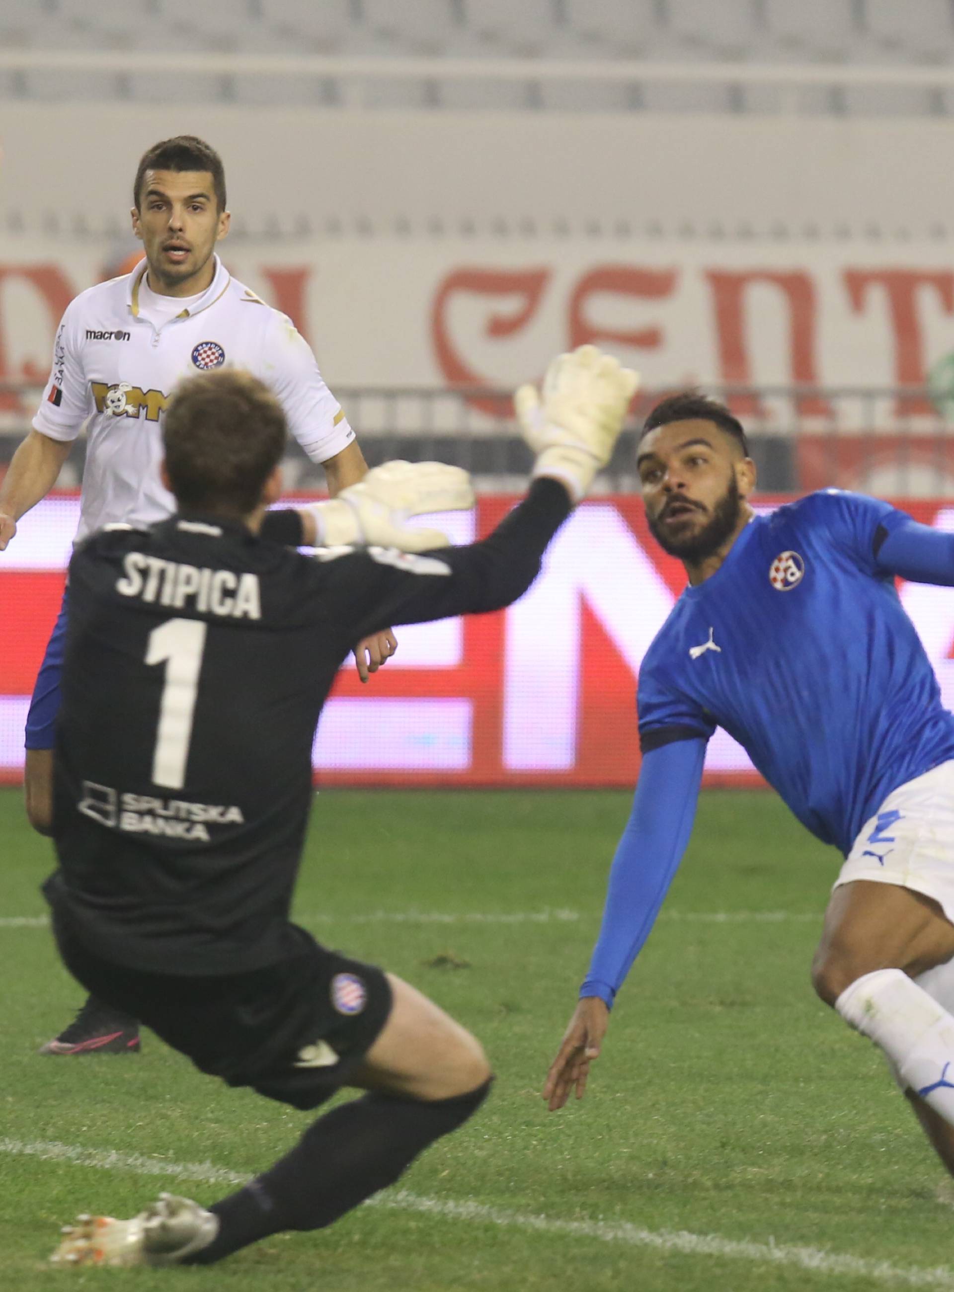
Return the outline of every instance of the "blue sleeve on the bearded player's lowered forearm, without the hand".
<path id="1" fill-rule="evenodd" d="M 644 755 L 580 996 L 611 1006 L 649 937 L 693 832 L 705 756 L 705 740 L 673 740 Z"/>

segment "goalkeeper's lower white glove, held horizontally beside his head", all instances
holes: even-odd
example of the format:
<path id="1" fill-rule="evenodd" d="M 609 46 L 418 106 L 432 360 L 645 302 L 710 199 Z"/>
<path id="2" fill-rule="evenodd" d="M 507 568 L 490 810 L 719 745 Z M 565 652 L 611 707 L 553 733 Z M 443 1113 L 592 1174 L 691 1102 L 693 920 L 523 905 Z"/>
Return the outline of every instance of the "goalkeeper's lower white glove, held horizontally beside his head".
<path id="1" fill-rule="evenodd" d="M 379 547 L 401 552 L 446 548 L 440 530 L 412 530 L 411 516 L 465 512 L 473 506 L 471 477 L 443 463 L 384 463 L 327 503 L 302 508 L 315 521 L 315 547 Z"/>

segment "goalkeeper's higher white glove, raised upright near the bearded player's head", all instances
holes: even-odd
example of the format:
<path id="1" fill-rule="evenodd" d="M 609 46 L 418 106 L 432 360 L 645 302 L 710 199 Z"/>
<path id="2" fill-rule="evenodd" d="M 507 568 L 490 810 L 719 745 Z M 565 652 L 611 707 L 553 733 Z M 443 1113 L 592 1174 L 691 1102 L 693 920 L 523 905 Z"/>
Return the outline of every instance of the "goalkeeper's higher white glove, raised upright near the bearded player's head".
<path id="1" fill-rule="evenodd" d="M 632 368 L 595 345 L 582 345 L 552 360 L 543 398 L 535 386 L 521 386 L 513 407 L 524 439 L 536 453 L 534 478 L 556 477 L 579 503 L 613 456 L 639 384 Z"/>

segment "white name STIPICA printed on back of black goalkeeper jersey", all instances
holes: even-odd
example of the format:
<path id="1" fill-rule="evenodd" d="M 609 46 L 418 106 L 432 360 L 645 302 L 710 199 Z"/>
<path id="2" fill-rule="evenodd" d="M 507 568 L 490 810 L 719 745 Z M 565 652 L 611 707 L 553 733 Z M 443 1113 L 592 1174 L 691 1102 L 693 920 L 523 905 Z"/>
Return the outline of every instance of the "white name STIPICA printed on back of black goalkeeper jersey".
<path id="1" fill-rule="evenodd" d="M 261 619 L 257 574 L 209 570 L 147 557 L 142 552 L 127 552 L 123 567 L 125 575 L 116 581 L 116 592 L 124 597 L 140 597 L 176 610 L 187 606 L 203 615 Z"/>

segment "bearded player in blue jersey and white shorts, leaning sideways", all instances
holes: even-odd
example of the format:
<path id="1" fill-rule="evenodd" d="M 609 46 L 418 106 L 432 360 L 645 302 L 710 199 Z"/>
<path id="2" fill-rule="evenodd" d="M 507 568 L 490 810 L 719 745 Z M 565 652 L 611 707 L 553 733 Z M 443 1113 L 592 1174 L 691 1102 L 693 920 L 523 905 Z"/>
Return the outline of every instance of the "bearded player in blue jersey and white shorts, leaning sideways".
<path id="1" fill-rule="evenodd" d="M 632 815 L 544 1098 L 583 1096 L 721 726 L 843 853 L 814 988 L 882 1048 L 954 1173 L 954 716 L 893 581 L 954 585 L 954 535 L 839 490 L 756 516 L 745 432 L 701 395 L 652 412 L 637 465 L 650 530 L 689 587 L 640 669 Z"/>

